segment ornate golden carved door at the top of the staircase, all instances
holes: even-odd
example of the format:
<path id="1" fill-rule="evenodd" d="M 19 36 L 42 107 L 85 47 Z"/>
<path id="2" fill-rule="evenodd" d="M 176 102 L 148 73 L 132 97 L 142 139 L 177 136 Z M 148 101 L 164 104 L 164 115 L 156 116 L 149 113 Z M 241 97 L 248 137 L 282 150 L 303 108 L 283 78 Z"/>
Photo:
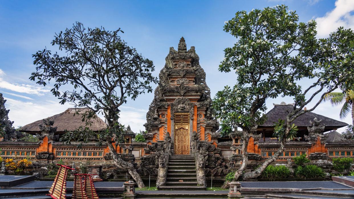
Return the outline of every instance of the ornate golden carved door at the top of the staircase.
<path id="1" fill-rule="evenodd" d="M 174 120 L 174 141 L 175 154 L 189 154 L 189 113 L 175 113 Z"/>

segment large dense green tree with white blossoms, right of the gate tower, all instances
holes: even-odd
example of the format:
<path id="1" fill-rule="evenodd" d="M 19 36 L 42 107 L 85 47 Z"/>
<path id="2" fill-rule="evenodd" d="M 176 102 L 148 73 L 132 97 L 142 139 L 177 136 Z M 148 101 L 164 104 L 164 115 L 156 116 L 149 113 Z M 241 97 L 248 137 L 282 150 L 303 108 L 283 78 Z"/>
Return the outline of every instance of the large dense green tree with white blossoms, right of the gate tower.
<path id="1" fill-rule="evenodd" d="M 316 22 L 298 22 L 296 11 L 285 5 L 263 10 L 236 12 L 225 22 L 224 31 L 238 38 L 224 50 L 219 71 L 237 75 L 237 83 L 217 92 L 213 101 L 221 120 L 222 134 L 242 129 L 242 164 L 235 180 L 258 177 L 284 151 L 286 140 L 296 131 L 292 122 L 313 111 L 327 93 L 349 88 L 353 83 L 352 30 L 338 28 L 326 39 L 316 39 Z M 307 81 L 305 87 L 299 82 Z M 312 94 L 310 94 L 312 93 Z M 258 124 L 264 123 L 265 101 L 278 96 L 292 96 L 293 111 L 283 124 L 277 124 L 280 147 L 257 169 L 242 174 L 247 166 L 247 145 Z M 320 98 L 319 101 L 316 98 Z M 303 110 L 305 106 L 314 104 Z M 281 119 L 281 118 L 279 118 Z M 249 134 L 249 133 L 252 134 Z"/>

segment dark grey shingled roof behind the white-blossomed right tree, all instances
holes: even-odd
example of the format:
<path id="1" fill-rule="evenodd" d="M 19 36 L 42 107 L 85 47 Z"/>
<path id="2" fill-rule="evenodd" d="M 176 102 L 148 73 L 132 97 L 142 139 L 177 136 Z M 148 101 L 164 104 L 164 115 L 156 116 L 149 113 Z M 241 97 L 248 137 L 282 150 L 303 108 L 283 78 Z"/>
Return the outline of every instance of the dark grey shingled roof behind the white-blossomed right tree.
<path id="1" fill-rule="evenodd" d="M 278 119 L 285 119 L 287 114 L 292 110 L 293 110 L 293 105 L 274 105 L 274 108 L 265 114 L 268 117 L 267 121 L 262 125 L 258 125 L 258 128 L 274 127 L 274 122 L 278 122 Z M 347 123 L 337 121 L 335 119 L 331 119 L 329 117 L 325 117 L 322 115 L 318 115 L 313 112 L 304 113 L 303 115 L 296 118 L 294 123 L 298 127 L 311 126 L 310 121 L 313 121 L 315 117 L 318 120 L 321 120 L 322 121 L 321 124 L 324 125 L 325 127 L 341 128 L 349 125 Z"/>

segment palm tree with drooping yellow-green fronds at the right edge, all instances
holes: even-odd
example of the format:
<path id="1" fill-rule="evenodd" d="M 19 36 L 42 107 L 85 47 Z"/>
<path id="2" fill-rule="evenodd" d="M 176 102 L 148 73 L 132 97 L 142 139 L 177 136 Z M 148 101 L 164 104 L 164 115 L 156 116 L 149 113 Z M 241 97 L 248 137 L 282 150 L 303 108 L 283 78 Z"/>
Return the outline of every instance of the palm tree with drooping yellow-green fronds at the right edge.
<path id="1" fill-rule="evenodd" d="M 352 123 L 354 125 L 354 90 L 348 90 L 343 93 L 328 93 L 323 97 L 324 101 L 331 101 L 332 106 L 338 106 L 343 104 L 341 112 L 339 112 L 339 118 L 344 119 L 351 112 Z"/>

